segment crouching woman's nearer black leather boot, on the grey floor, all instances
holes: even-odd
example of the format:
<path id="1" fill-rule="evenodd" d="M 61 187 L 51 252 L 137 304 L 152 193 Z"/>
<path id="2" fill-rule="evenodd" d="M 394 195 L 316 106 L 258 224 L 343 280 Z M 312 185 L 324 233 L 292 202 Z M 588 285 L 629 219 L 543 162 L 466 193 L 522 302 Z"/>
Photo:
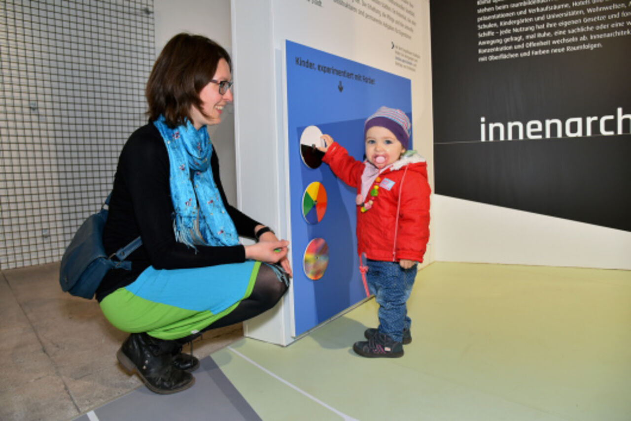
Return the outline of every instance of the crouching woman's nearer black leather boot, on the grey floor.
<path id="1" fill-rule="evenodd" d="M 127 371 L 135 371 L 152 392 L 176 393 L 190 388 L 195 378 L 174 366 L 171 354 L 174 343 L 146 333 L 132 333 L 122 343 L 116 357 Z"/>

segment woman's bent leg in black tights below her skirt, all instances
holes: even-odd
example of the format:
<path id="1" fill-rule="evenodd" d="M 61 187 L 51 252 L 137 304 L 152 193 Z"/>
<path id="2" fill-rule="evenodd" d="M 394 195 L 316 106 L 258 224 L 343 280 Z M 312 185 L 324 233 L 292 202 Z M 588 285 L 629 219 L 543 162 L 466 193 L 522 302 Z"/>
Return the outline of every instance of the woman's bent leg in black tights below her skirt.
<path id="1" fill-rule="evenodd" d="M 288 276 L 287 279 L 289 279 Z M 206 328 L 203 328 L 195 335 L 180 338 L 177 342 L 186 343 L 208 330 L 223 328 L 224 326 L 233 325 L 235 323 L 239 323 L 240 321 L 258 316 L 276 305 L 278 300 L 280 300 L 283 294 L 287 291 L 287 288 L 288 287 L 285 285 L 285 282 L 278 279 L 276 272 L 274 272 L 272 268 L 268 265 L 261 264 L 259 273 L 256 275 L 256 280 L 254 280 L 252 294 L 250 294 L 249 297 L 243 299 L 237 308 L 233 309 L 226 316 L 223 316 L 219 320 L 215 321 L 215 323 L 211 323 L 211 325 L 206 326 Z"/>

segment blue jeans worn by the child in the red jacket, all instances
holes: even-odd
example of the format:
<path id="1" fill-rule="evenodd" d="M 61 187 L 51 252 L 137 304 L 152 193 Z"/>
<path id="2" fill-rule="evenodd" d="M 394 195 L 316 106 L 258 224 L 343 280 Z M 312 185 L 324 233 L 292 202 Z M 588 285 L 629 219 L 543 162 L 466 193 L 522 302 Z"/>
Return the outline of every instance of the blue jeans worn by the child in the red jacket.
<path id="1" fill-rule="evenodd" d="M 398 262 L 367 260 L 366 280 L 371 294 L 379 304 L 379 332 L 396 342 L 403 341 L 403 329 L 409 329 L 406 301 L 416 277 L 416 265 L 403 269 Z"/>

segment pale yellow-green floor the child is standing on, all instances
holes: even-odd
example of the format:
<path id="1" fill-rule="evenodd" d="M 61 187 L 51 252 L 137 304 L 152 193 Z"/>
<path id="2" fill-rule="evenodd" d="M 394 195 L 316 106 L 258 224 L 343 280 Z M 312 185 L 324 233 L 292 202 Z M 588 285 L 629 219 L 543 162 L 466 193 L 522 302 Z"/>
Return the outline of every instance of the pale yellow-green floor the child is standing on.
<path id="1" fill-rule="evenodd" d="M 212 357 L 263 420 L 631 420 L 631 272 L 433 263 L 408 307 L 400 359 L 350 350 L 374 300 L 289 347 Z"/>

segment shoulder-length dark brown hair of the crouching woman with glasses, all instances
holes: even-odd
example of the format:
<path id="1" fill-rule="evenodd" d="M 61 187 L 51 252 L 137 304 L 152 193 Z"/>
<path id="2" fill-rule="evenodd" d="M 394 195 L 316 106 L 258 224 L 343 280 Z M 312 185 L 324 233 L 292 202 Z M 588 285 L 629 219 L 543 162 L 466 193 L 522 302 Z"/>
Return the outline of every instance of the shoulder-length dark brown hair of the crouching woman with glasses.
<path id="1" fill-rule="evenodd" d="M 215 41 L 188 33 L 171 38 L 153 64 L 144 91 L 149 120 L 163 115 L 167 125 L 175 127 L 191 118 L 191 106 L 206 116 L 199 92 L 215 76 L 220 59 L 227 61 L 232 71 L 230 55 Z"/>

